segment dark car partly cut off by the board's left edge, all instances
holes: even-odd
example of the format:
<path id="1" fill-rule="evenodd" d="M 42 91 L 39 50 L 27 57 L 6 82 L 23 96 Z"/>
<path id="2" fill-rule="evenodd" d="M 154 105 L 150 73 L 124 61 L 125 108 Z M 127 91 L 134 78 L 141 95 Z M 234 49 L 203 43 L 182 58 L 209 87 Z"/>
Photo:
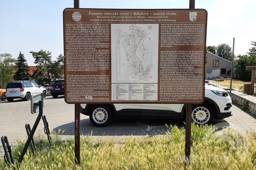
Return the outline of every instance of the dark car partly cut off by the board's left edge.
<path id="1" fill-rule="evenodd" d="M 50 94 L 53 98 L 57 98 L 59 95 L 65 94 L 65 81 L 64 78 L 56 79 L 50 86 Z"/>

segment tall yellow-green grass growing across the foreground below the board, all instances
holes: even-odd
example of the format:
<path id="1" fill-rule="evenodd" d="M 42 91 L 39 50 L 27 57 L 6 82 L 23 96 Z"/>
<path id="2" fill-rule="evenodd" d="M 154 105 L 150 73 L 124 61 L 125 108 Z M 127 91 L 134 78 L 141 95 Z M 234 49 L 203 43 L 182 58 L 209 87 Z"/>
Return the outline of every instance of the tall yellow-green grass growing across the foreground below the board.
<path id="1" fill-rule="evenodd" d="M 192 124 L 191 165 L 188 169 L 256 169 L 256 134 L 225 129 L 216 135 L 211 126 Z M 164 135 L 143 139 L 127 138 L 123 143 L 81 138 L 81 162 L 75 165 L 74 140 L 62 142 L 54 134 L 53 142 L 36 137 L 37 152 L 28 150 L 23 162 L 9 166 L 0 161 L 0 169 L 82 169 L 82 170 L 165 170 L 184 169 L 185 129 L 170 127 Z M 14 148 L 15 159 L 24 143 Z"/>

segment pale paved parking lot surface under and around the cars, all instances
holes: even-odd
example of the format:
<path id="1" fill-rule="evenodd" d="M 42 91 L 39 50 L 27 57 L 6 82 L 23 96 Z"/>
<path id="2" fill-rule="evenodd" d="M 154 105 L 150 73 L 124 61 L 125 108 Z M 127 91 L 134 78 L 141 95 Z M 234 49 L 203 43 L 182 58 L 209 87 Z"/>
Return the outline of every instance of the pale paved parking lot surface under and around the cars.
<path id="1" fill-rule="evenodd" d="M 0 136 L 6 135 L 11 146 L 16 145 L 16 140 L 26 141 L 27 135 L 25 124 L 31 128 L 38 113 L 31 114 L 30 101 L 15 99 L 13 102 L 0 101 Z M 63 137 L 74 137 L 74 104 L 66 104 L 64 96 L 44 98 L 43 114 L 49 122 L 49 128 L 58 132 L 64 131 Z M 98 128 L 91 124 L 89 116 L 81 114 L 81 135 L 90 134 L 95 139 L 111 139 L 114 142 L 123 140 L 129 136 L 145 136 L 152 134 L 164 134 L 169 128 L 165 125 L 184 126 L 181 120 L 116 120 L 113 124 Z M 230 127 L 234 130 L 256 130 L 256 117 L 250 113 L 241 111 L 233 105 L 233 116 L 222 120 L 214 120 L 218 128 Z M 36 134 L 45 135 L 41 120 Z M 0 143 L 0 155 L 3 155 L 2 143 Z"/>

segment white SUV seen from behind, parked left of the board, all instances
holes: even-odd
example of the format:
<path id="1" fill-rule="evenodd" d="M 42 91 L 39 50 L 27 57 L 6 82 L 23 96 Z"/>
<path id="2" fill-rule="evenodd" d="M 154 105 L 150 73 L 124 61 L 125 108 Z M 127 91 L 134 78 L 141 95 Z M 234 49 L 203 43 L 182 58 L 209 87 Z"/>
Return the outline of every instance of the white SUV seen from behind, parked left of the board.
<path id="1" fill-rule="evenodd" d="M 43 94 L 43 97 L 47 95 L 47 91 L 43 86 L 30 80 L 19 80 L 9 81 L 6 86 L 5 96 L 9 102 L 13 101 L 15 98 L 22 98 L 28 101 L 31 99 L 31 96 L 40 93 Z"/>

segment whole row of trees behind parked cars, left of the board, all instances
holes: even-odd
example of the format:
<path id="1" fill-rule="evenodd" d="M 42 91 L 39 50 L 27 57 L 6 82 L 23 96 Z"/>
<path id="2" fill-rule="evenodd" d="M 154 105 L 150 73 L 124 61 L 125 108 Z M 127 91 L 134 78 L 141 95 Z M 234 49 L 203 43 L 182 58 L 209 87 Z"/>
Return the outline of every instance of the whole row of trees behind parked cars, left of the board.
<path id="1" fill-rule="evenodd" d="M 20 52 L 17 60 L 12 58 L 11 54 L 0 54 L 0 87 L 13 79 L 29 80 L 32 78 L 38 84 L 43 85 L 50 84 L 54 79 L 63 78 L 64 56 L 62 54 L 57 57 L 56 61 L 52 61 L 52 55 L 49 51 L 30 51 L 30 53 L 32 53 L 34 63 L 37 64 L 37 69 L 34 70 L 32 77 L 28 73 L 29 67 L 23 53 Z"/>

